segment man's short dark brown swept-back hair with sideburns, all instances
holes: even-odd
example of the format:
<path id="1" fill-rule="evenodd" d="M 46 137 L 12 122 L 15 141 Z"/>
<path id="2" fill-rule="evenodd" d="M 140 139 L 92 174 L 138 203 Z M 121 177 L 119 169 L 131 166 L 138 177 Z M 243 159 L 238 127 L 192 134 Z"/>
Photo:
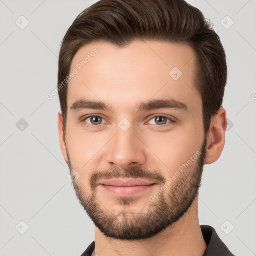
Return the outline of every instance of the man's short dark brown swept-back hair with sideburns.
<path id="1" fill-rule="evenodd" d="M 195 87 L 202 98 L 204 132 L 222 106 L 227 82 L 225 51 L 202 12 L 184 0 L 100 0 L 83 10 L 67 30 L 59 52 L 58 91 L 65 135 L 65 79 L 78 49 L 96 40 L 127 46 L 135 39 L 186 43 L 195 52 Z M 63 81 L 64 86 L 63 86 Z"/>

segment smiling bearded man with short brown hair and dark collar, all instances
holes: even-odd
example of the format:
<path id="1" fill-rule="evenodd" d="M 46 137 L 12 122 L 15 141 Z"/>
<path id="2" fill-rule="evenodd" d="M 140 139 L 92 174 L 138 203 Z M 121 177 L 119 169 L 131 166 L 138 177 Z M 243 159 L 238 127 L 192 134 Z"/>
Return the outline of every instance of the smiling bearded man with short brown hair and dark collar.
<path id="1" fill-rule="evenodd" d="M 101 0 L 59 55 L 58 129 L 95 224 L 82 255 L 233 255 L 200 226 L 204 164 L 221 155 L 225 52 L 183 0 Z"/>

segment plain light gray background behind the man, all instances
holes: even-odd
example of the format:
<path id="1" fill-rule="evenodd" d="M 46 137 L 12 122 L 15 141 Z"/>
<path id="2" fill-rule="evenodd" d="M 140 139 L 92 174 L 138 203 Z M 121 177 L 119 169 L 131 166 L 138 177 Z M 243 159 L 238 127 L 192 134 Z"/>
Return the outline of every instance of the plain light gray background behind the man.
<path id="1" fill-rule="evenodd" d="M 80 255 L 94 240 L 66 176 L 58 96 L 46 98 L 57 85 L 62 38 L 94 2 L 0 0 L 0 256 Z M 214 23 L 228 64 L 226 144 L 204 167 L 200 224 L 212 225 L 234 254 L 256 255 L 256 1 L 188 2 Z"/>

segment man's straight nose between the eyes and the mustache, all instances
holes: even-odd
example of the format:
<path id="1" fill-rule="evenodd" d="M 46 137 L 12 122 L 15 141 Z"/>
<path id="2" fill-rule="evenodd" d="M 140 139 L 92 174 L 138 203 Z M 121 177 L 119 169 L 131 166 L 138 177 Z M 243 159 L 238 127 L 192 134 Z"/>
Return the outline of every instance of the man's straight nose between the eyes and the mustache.
<path id="1" fill-rule="evenodd" d="M 131 126 L 123 131 L 116 128 L 115 136 L 107 143 L 106 159 L 111 167 L 127 168 L 130 165 L 143 165 L 146 161 L 146 146 Z M 142 140 L 142 141 L 141 141 Z"/>

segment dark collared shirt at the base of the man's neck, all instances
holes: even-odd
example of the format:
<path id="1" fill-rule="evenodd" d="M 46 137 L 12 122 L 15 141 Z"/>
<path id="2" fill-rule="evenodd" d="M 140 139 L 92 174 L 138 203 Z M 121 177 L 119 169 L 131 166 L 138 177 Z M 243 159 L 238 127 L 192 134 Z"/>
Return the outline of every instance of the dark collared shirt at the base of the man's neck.
<path id="1" fill-rule="evenodd" d="M 226 245 L 222 242 L 212 226 L 201 225 L 202 235 L 207 244 L 203 256 L 234 256 Z M 91 256 L 95 248 L 95 241 L 93 241 L 81 256 Z"/>

